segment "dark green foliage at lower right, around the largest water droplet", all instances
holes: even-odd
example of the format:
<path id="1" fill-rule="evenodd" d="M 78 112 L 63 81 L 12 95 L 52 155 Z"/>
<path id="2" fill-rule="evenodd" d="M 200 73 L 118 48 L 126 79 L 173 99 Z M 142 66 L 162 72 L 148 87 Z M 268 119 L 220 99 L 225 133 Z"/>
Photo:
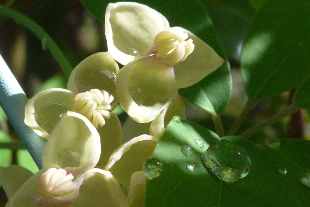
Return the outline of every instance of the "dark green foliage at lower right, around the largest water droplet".
<path id="1" fill-rule="evenodd" d="M 204 140 L 205 148 L 197 147 L 195 139 Z M 145 206 L 309 206 L 310 188 L 299 179 L 307 172 L 310 141 L 281 139 L 280 150 L 255 146 L 237 136 L 223 137 L 241 145 L 251 159 L 249 174 L 236 182 L 222 182 L 201 163 L 201 154 L 216 135 L 190 121 L 171 121 L 158 142 L 152 157 L 163 164 L 158 178 L 147 181 Z M 193 148 L 184 156 L 181 147 Z M 194 165 L 193 172 L 187 165 Z M 286 169 L 287 174 L 279 173 Z"/>

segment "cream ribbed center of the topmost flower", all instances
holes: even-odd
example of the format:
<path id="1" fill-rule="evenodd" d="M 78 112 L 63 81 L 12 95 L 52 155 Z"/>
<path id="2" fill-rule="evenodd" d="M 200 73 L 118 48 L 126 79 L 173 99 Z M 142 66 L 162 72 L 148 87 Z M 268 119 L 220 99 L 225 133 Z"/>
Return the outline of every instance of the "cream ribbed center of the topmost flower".
<path id="1" fill-rule="evenodd" d="M 154 38 L 153 50 L 161 63 L 174 66 L 182 62 L 191 54 L 195 45 L 188 39 L 187 33 L 180 28 L 167 28 L 159 32 Z"/>

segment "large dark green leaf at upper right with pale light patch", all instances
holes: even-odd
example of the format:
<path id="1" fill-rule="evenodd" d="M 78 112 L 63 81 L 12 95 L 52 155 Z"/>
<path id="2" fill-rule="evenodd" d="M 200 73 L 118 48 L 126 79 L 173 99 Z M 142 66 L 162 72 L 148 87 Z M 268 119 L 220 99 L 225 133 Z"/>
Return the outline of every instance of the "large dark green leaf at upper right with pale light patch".
<path id="1" fill-rule="evenodd" d="M 310 72 L 310 2 L 266 0 L 241 51 L 241 72 L 250 99 L 297 87 Z"/>

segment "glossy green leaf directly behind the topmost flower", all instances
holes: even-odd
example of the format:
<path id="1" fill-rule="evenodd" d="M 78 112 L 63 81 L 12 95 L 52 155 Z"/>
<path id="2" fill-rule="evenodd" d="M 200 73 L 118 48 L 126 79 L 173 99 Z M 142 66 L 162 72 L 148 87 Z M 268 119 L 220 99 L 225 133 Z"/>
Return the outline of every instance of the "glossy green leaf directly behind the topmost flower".
<path id="1" fill-rule="evenodd" d="M 101 0 L 80 0 L 83 6 L 95 17 L 104 22 L 104 13 L 109 2 Z M 138 0 L 164 15 L 170 26 L 180 26 L 193 32 L 204 42 L 210 45 L 219 56 L 227 60 L 223 47 L 219 43 L 215 29 L 206 14 L 205 8 L 198 0 L 178 1 L 147 1 Z M 179 93 L 190 102 L 206 109 L 210 113 L 219 113 L 227 105 L 231 93 L 231 78 L 227 61 L 215 72 L 208 75 L 197 84 L 180 89 Z"/>

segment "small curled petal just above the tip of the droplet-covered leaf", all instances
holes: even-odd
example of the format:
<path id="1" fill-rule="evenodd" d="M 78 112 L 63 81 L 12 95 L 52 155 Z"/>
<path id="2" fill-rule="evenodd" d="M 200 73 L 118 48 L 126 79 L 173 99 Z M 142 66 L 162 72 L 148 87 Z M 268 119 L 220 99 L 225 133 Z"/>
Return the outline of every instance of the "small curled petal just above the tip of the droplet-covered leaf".
<path id="1" fill-rule="evenodd" d="M 168 108 L 162 110 L 150 125 L 150 134 L 154 139 L 158 139 L 164 133 L 166 126 L 174 116 L 179 116 L 181 120 L 186 120 L 184 98 L 175 99 L 171 102 Z"/>

